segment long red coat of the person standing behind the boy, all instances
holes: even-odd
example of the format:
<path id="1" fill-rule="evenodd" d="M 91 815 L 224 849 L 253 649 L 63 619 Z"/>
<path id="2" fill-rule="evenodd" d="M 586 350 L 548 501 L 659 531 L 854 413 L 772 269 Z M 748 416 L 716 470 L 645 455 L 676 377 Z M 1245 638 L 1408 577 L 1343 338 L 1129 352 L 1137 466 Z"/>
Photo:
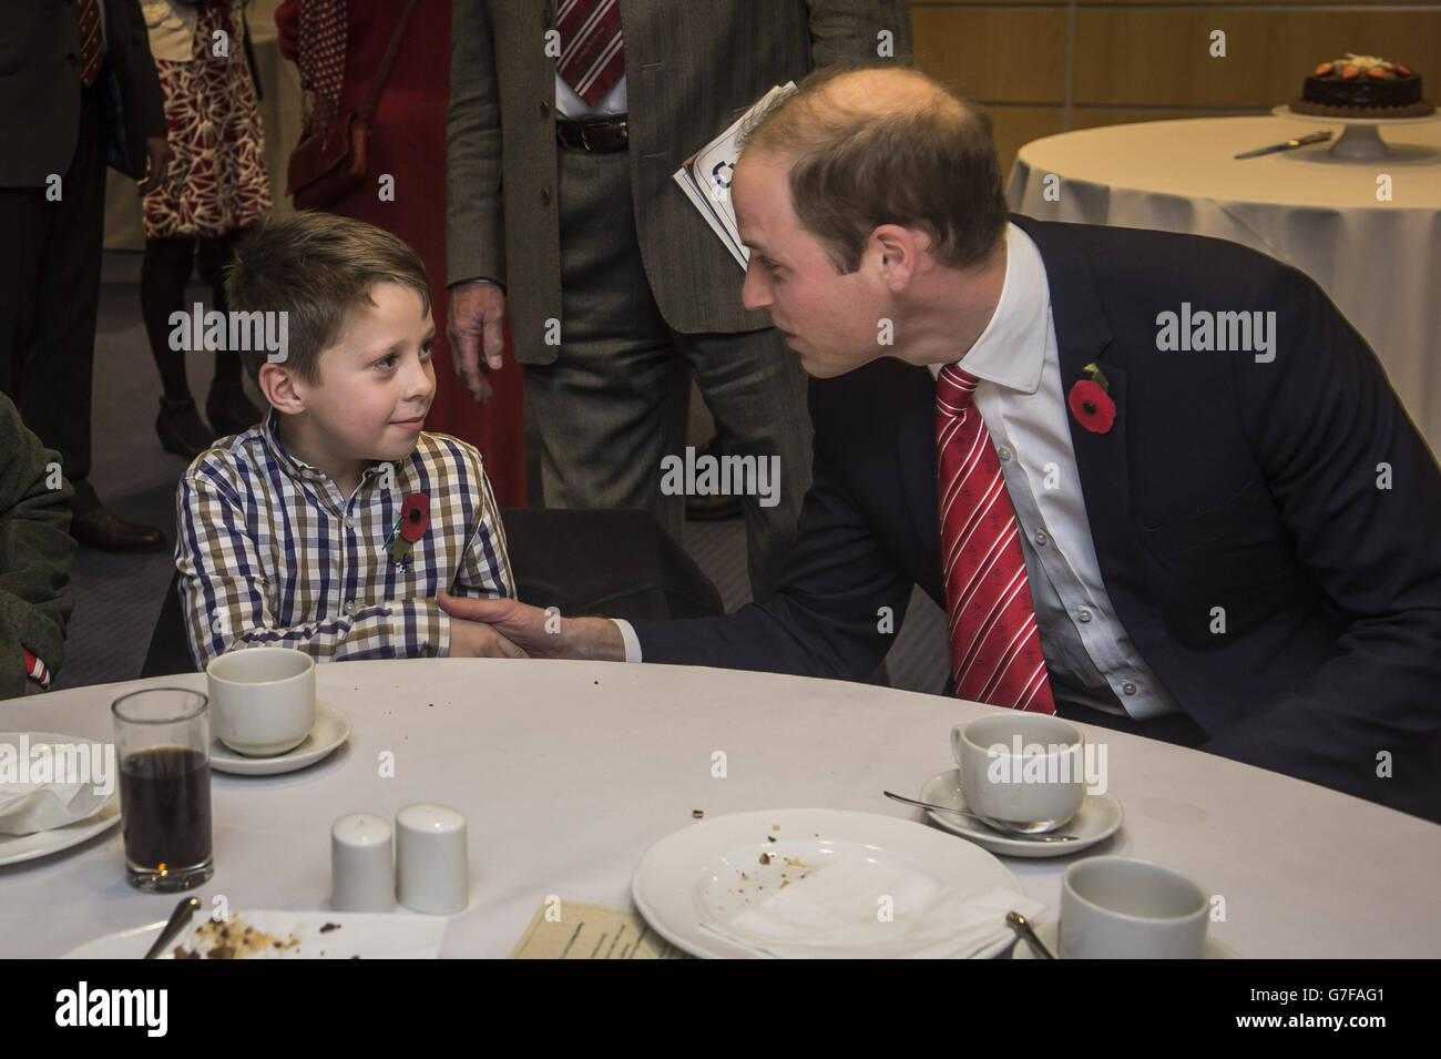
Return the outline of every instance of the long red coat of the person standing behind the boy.
<path id="1" fill-rule="evenodd" d="M 359 111 L 395 32 L 403 0 L 347 4 L 346 73 L 340 112 Z M 280 50 L 297 56 L 300 0 L 275 9 Z M 525 415 L 520 367 L 490 375 L 496 390 L 484 408 L 461 385 L 445 339 L 445 110 L 450 104 L 450 3 L 418 3 L 391 76 L 376 105 L 367 143 L 372 180 L 333 210 L 405 239 L 425 262 L 435 318 L 435 402 L 425 428 L 454 434 L 480 450 L 501 507 L 526 503 Z M 395 199 L 380 202 L 373 177 L 395 177 Z"/>

